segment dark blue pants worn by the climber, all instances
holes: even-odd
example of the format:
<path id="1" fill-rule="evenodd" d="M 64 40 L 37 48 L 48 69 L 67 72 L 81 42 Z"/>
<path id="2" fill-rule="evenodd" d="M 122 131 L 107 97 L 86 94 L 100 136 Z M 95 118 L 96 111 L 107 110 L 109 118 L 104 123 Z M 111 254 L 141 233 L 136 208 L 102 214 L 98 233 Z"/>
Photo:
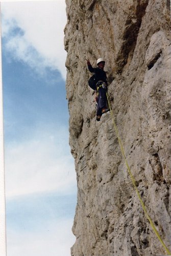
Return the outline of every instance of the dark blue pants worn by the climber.
<path id="1" fill-rule="evenodd" d="M 96 116 L 102 116 L 102 109 L 105 109 L 107 107 L 106 89 L 100 87 L 97 93 L 98 96 Z"/>

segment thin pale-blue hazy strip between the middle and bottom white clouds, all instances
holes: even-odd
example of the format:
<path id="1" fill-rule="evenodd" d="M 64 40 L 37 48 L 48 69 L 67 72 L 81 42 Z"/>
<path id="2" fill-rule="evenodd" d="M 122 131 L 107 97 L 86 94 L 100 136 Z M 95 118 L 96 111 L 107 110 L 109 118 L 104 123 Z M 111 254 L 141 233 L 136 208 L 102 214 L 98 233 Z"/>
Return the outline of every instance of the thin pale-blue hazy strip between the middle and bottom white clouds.
<path id="1" fill-rule="evenodd" d="M 11 229 L 34 232 L 43 231 L 50 223 L 74 216 L 76 193 L 39 193 L 17 196 L 6 200 L 7 226 Z"/>

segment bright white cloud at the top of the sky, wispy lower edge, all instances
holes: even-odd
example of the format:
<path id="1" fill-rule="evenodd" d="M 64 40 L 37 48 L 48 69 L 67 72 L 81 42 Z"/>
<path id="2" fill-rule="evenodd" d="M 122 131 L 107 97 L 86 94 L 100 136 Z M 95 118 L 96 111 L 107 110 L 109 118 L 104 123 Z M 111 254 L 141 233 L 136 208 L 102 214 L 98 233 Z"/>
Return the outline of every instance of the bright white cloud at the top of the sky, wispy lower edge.
<path id="1" fill-rule="evenodd" d="M 65 2 L 3 2 L 2 14 L 6 50 L 37 70 L 45 66 L 58 69 L 65 78 Z M 23 33 L 14 33 L 17 27 Z"/>

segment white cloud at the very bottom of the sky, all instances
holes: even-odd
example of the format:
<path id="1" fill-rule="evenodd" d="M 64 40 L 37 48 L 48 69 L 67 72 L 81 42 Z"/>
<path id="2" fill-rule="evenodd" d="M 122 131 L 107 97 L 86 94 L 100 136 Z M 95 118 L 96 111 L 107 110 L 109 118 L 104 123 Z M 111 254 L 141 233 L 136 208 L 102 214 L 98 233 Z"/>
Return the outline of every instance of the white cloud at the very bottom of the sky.
<path id="1" fill-rule="evenodd" d="M 70 247 L 75 242 L 71 236 L 73 220 L 58 220 L 46 224 L 44 230 L 39 232 L 14 231 L 7 232 L 7 252 L 10 256 L 68 256 Z M 10 246 L 9 246 L 10 245 Z"/>

